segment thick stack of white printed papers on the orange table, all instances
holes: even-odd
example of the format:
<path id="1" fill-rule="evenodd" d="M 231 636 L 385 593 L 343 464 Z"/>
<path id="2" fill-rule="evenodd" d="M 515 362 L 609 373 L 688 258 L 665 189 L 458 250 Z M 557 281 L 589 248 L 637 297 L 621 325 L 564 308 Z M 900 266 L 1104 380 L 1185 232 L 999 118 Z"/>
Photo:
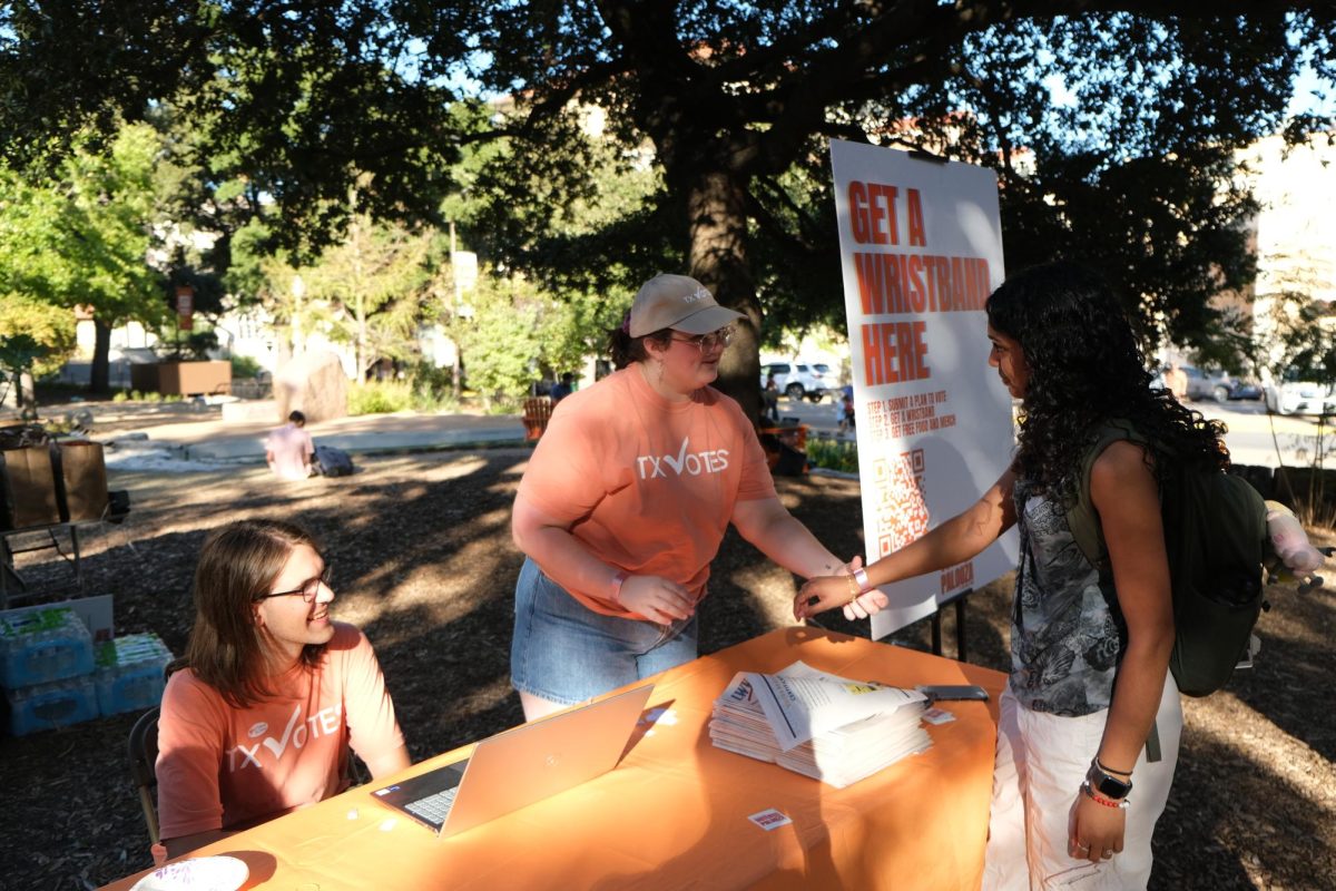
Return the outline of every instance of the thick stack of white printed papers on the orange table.
<path id="1" fill-rule="evenodd" d="M 739 672 L 715 700 L 719 748 L 774 761 L 843 788 L 927 749 L 925 697 L 794 663 L 778 675 Z"/>

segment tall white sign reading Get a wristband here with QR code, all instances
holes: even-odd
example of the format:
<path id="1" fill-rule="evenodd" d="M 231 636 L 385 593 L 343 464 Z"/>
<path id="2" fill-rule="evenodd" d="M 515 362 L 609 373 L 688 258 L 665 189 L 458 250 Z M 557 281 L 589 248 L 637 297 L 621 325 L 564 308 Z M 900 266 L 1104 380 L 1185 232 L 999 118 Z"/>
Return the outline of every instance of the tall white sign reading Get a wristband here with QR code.
<path id="1" fill-rule="evenodd" d="M 831 142 L 854 365 L 866 561 L 961 513 L 1011 458 L 1011 397 L 989 367 L 983 303 L 1002 283 L 997 178 Z M 872 637 L 1015 568 L 1015 533 L 883 590 Z"/>

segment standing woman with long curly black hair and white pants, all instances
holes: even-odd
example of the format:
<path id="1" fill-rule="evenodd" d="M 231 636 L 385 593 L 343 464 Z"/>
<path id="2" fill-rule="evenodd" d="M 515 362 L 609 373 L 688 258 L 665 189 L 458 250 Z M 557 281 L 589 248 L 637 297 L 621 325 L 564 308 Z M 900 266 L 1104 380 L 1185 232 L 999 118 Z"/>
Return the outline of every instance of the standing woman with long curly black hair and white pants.
<path id="1" fill-rule="evenodd" d="M 887 605 L 878 585 L 965 562 L 1017 525 L 983 887 L 1144 888 L 1182 729 L 1160 486 L 1185 464 L 1226 465 L 1224 426 L 1150 387 L 1126 315 L 1090 270 L 1025 270 L 986 309 L 989 365 L 1022 401 L 1010 468 L 971 508 L 864 572 L 807 582 L 794 614 L 843 605 L 866 617 Z M 1116 421 L 1121 438 L 1092 464 Z M 1083 466 L 1104 569 L 1066 521 Z"/>

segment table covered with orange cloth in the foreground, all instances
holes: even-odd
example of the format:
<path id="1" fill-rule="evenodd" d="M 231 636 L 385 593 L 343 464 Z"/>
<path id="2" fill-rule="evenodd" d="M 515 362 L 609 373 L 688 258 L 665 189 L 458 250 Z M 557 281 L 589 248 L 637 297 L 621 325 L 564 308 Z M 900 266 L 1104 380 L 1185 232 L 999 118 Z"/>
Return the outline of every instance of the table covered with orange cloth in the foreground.
<path id="1" fill-rule="evenodd" d="M 737 671 L 796 659 L 847 677 L 981 684 L 991 700 L 947 703 L 933 748 L 836 789 L 716 749 L 711 703 Z M 370 793 L 350 789 L 196 851 L 251 867 L 247 888 L 970 888 L 979 887 L 997 697 L 1005 676 L 975 665 L 812 628 L 771 632 L 665 672 L 609 773 L 441 840 Z M 643 733 L 643 735 L 641 735 Z M 458 759 L 429 759 L 402 776 Z M 747 816 L 775 808 L 790 826 Z M 142 874 L 140 874 L 142 875 Z M 139 875 L 107 886 L 130 888 Z"/>

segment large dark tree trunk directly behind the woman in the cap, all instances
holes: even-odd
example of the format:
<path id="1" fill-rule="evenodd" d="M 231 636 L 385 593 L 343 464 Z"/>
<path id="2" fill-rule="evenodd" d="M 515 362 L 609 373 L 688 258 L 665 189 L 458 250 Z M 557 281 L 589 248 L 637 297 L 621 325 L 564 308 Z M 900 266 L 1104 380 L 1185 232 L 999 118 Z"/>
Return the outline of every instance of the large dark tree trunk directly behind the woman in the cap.
<path id="1" fill-rule="evenodd" d="M 691 274 L 721 306 L 737 310 L 737 335 L 719 363 L 716 387 L 760 421 L 760 302 L 747 263 L 745 192 L 735 176 L 709 171 L 688 188 Z"/>

